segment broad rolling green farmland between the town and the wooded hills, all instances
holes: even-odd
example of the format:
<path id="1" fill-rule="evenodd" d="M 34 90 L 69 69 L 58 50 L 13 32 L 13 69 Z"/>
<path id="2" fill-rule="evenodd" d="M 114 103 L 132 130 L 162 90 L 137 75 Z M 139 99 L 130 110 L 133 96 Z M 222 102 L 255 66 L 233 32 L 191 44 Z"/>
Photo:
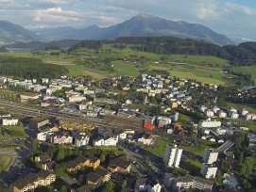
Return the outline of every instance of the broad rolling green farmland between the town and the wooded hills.
<path id="1" fill-rule="evenodd" d="M 227 60 L 216 56 L 157 55 L 135 51 L 131 45 L 117 49 L 112 44 L 103 44 L 97 51 L 80 48 L 71 54 L 60 53 L 59 56 L 47 55 L 45 51 L 13 51 L 1 55 L 40 58 L 48 64 L 66 66 L 70 71 L 69 75 L 91 75 L 96 79 L 114 75 L 137 76 L 138 65 L 140 65 L 144 70 L 162 69 L 182 79 L 196 79 L 196 81 L 215 85 L 227 85 L 222 68 L 229 66 Z M 110 67 L 104 69 L 104 60 L 111 61 L 114 72 Z M 186 63 L 186 65 L 176 65 L 177 62 Z"/>

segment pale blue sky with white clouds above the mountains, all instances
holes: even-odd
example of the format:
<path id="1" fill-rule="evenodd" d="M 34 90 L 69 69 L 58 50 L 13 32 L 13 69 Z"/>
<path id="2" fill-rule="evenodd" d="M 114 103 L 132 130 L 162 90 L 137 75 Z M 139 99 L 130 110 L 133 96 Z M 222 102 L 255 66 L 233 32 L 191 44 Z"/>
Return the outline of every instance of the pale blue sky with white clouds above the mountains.
<path id="1" fill-rule="evenodd" d="M 28 29 L 110 26 L 139 13 L 256 40 L 256 0 L 0 0 L 0 20 Z"/>

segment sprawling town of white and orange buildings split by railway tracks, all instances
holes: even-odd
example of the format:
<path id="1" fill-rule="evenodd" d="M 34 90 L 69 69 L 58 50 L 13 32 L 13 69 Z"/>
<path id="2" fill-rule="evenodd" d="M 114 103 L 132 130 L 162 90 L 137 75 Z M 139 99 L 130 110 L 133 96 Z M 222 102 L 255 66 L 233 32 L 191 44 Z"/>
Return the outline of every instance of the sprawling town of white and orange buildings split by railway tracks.
<path id="1" fill-rule="evenodd" d="M 158 72 L 2 76 L 1 155 L 11 158 L 3 190 L 246 191 L 256 114 L 224 107 L 220 86 Z M 230 94 L 248 90 L 256 87 Z"/>

